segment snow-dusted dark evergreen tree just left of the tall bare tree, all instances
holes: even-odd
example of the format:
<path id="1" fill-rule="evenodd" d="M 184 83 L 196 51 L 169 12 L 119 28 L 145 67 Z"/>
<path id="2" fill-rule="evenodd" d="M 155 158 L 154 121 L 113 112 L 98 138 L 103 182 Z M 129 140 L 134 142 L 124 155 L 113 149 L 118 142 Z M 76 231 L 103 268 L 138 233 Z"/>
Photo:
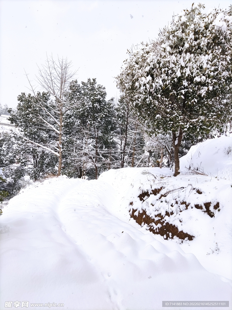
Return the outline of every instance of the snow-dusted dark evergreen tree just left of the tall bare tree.
<path id="1" fill-rule="evenodd" d="M 46 123 L 38 121 L 46 117 L 45 111 L 40 107 L 40 102 L 48 104 L 50 96 L 46 92 L 38 92 L 35 96 L 21 93 L 18 96 L 17 110 L 8 109 L 9 120 L 15 124 L 17 131 L 12 134 L 12 149 L 14 156 L 12 163 L 20 163 L 20 169 L 25 170 L 34 181 L 43 178 L 49 173 L 55 173 L 57 156 L 48 152 L 56 142 L 56 133 Z M 19 132 L 19 133 L 18 133 Z M 9 142 L 5 142 L 5 144 Z M 7 148 L 7 152 L 11 147 Z M 11 154 L 12 152 L 9 152 Z M 11 164 L 12 164 L 11 163 Z"/>

